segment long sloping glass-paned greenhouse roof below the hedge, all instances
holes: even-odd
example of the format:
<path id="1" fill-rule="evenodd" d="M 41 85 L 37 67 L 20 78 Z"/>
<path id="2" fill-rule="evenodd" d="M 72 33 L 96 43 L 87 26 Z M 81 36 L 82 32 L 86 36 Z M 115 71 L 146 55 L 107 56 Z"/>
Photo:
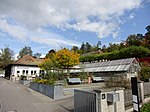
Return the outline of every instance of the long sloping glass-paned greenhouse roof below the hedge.
<path id="1" fill-rule="evenodd" d="M 86 63 L 80 64 L 79 69 L 70 70 L 70 73 L 79 72 L 117 72 L 117 71 L 127 71 L 135 58 L 112 60 L 106 62 L 96 62 L 96 63 Z"/>

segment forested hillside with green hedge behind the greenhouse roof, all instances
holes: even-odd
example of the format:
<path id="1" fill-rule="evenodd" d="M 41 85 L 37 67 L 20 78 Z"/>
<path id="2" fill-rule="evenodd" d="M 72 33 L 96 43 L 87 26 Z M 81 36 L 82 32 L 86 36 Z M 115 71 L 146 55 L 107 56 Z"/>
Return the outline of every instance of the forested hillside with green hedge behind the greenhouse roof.
<path id="1" fill-rule="evenodd" d="M 146 30 L 145 34 L 129 35 L 119 44 L 109 43 L 108 47 L 101 46 L 101 41 L 93 46 L 86 42 L 82 43 L 80 48 L 73 46 L 72 50 L 81 54 L 81 62 L 150 57 L 150 25 Z"/>

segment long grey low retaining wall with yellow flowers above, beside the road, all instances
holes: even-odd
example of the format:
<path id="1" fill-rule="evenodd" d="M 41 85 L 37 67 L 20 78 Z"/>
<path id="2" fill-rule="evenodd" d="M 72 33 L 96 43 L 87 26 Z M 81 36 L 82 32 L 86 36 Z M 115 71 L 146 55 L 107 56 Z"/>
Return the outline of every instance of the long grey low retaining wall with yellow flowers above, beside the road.
<path id="1" fill-rule="evenodd" d="M 63 98 L 63 86 L 53 86 L 31 82 L 29 87 L 53 99 Z"/>

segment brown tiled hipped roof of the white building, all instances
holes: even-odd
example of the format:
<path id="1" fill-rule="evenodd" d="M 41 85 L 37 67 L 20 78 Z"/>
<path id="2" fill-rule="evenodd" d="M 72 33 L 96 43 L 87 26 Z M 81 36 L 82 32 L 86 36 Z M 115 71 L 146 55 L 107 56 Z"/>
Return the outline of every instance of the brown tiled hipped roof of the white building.
<path id="1" fill-rule="evenodd" d="M 44 61 L 44 59 L 37 59 L 30 55 L 25 55 L 13 64 L 24 64 L 24 65 L 39 65 Z"/>

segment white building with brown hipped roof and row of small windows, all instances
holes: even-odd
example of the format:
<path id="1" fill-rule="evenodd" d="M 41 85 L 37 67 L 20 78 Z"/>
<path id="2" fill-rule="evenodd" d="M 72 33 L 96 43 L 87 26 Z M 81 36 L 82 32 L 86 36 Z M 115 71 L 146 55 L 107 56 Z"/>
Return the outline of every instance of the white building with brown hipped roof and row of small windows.
<path id="1" fill-rule="evenodd" d="M 38 65 L 42 62 L 43 59 L 36 59 L 30 55 L 25 55 L 6 67 L 5 77 L 9 79 L 15 77 L 16 80 L 19 80 L 20 76 L 26 76 L 27 79 L 39 76 L 43 70 L 41 70 Z"/>

